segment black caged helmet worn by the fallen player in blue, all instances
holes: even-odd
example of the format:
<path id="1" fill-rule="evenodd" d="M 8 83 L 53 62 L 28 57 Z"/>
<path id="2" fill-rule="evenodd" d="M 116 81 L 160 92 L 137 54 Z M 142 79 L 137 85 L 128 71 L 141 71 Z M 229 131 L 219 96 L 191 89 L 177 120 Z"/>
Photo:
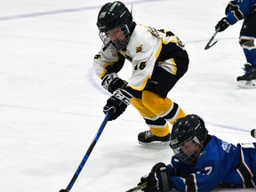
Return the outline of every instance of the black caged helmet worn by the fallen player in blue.
<path id="1" fill-rule="evenodd" d="M 182 117 L 175 121 L 172 126 L 170 147 L 174 154 L 186 164 L 194 164 L 203 148 L 208 131 L 205 128 L 204 120 L 194 114 Z M 190 142 L 195 151 L 186 151 L 183 147 Z M 193 149 L 194 150 L 194 149 Z"/>

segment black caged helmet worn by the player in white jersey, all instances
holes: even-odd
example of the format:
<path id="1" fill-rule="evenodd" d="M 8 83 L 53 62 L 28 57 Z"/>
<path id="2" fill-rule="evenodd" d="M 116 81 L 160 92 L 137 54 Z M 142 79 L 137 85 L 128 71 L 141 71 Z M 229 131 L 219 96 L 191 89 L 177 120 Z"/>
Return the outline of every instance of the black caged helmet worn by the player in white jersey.
<path id="1" fill-rule="evenodd" d="M 118 51 L 129 42 L 132 31 L 132 13 L 119 1 L 104 4 L 98 14 L 97 27 L 100 30 L 99 35 L 105 44 L 105 49 L 108 47 Z M 124 39 L 113 41 L 109 38 L 108 31 L 115 30 L 115 28 L 123 31 Z"/>

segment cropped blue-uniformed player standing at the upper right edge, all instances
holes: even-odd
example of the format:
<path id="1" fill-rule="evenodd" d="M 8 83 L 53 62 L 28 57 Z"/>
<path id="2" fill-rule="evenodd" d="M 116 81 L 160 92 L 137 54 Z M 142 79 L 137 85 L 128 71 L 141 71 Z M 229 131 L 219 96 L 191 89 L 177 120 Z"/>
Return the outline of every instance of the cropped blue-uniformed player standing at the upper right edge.
<path id="1" fill-rule="evenodd" d="M 239 44 L 244 50 L 247 63 L 244 64 L 244 76 L 236 78 L 237 84 L 245 88 L 256 87 L 256 0 L 232 0 L 215 29 L 220 32 L 234 25 L 237 20 L 244 20 L 240 31 Z"/>

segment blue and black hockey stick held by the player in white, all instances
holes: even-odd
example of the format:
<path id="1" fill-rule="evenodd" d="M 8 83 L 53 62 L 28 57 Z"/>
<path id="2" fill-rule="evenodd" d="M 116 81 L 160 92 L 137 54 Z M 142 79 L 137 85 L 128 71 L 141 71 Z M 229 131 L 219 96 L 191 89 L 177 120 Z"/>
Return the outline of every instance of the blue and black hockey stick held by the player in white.
<path id="1" fill-rule="evenodd" d="M 77 167 L 74 176 L 69 181 L 68 187 L 66 189 L 60 189 L 60 192 L 69 192 L 71 190 L 71 188 L 73 187 L 74 183 L 76 182 L 76 179 L 77 179 L 78 175 L 80 174 L 80 172 L 82 171 L 82 169 L 84 167 L 84 164 L 86 163 L 87 159 L 89 158 L 90 154 L 92 153 L 92 149 L 94 148 L 95 144 L 99 140 L 100 134 L 101 134 L 101 132 L 103 132 L 103 129 L 104 129 L 104 127 L 106 126 L 106 124 L 108 122 L 110 114 L 111 114 L 111 111 L 108 111 L 108 113 L 105 116 L 102 124 L 100 125 L 100 129 L 98 130 L 98 132 L 96 133 L 94 139 L 92 140 L 92 143 L 91 143 L 90 147 L 87 149 L 83 160 L 81 161 L 81 163 Z"/>

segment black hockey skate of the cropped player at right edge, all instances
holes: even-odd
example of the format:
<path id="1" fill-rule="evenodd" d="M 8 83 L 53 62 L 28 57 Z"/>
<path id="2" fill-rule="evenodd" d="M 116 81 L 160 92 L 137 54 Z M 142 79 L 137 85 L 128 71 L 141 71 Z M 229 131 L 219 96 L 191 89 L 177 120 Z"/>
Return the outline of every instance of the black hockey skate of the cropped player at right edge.
<path id="1" fill-rule="evenodd" d="M 237 76 L 237 84 L 243 88 L 256 88 L 256 65 L 244 64 L 244 76 Z"/>

